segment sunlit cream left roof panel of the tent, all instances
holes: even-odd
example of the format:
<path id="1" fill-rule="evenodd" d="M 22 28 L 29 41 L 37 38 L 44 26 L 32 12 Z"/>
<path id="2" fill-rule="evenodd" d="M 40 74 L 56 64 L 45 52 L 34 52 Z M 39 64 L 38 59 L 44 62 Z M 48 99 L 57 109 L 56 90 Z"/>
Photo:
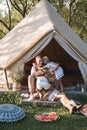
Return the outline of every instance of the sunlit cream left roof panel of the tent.
<path id="1" fill-rule="evenodd" d="M 43 1 L 0 40 L 1 69 L 8 68 L 14 64 L 42 37 L 53 30 L 53 24 L 44 6 Z"/>

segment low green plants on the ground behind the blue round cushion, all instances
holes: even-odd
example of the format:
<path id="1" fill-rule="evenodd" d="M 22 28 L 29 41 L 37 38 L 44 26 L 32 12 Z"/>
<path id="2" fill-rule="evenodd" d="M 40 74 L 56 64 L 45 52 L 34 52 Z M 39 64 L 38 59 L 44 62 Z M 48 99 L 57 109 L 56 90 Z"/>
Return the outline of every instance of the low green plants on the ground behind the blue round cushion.
<path id="1" fill-rule="evenodd" d="M 12 103 L 16 105 L 21 105 L 23 99 L 20 92 L 6 92 L 0 94 L 0 103 Z"/>

